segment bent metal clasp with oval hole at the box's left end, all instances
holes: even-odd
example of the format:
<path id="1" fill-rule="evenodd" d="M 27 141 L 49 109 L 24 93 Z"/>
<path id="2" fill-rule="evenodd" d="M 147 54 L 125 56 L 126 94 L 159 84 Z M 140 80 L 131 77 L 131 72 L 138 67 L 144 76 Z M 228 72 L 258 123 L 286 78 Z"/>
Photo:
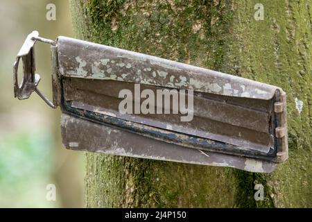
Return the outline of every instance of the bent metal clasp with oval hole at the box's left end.
<path id="1" fill-rule="evenodd" d="M 44 94 L 42 94 L 42 92 L 40 92 L 40 90 L 37 88 L 37 85 L 40 82 L 40 75 L 35 74 L 35 50 L 33 48 L 37 40 L 55 46 L 55 42 L 53 40 L 46 40 L 42 37 L 39 37 L 39 33 L 37 31 L 33 31 L 26 37 L 26 40 L 21 46 L 19 53 L 17 53 L 17 58 L 13 66 L 14 96 L 18 99 L 28 99 L 33 92 L 36 92 L 44 100 L 44 102 L 46 102 L 46 104 L 51 106 L 51 108 L 56 108 L 56 105 L 47 99 L 46 96 L 44 96 Z M 17 71 L 19 68 L 20 59 L 23 61 L 24 76 L 21 80 L 21 84 L 19 85 Z"/>

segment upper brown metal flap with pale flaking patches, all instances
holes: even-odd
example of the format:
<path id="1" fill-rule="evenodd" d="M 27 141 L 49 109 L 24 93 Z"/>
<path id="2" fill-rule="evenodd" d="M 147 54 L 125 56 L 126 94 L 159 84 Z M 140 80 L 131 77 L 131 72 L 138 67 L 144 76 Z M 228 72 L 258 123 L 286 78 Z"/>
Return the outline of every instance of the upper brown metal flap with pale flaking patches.
<path id="1" fill-rule="evenodd" d="M 254 80 L 69 37 L 58 37 L 57 44 L 62 76 L 161 85 L 265 100 L 272 99 L 277 89 L 282 91 Z"/>

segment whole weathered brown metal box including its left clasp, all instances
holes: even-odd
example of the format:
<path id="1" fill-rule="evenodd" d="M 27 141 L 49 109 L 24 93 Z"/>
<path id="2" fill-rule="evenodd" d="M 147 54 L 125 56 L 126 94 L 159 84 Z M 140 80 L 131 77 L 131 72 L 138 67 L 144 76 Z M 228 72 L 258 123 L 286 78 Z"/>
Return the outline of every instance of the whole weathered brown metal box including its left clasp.
<path id="1" fill-rule="evenodd" d="M 51 44 L 53 102 L 37 89 L 37 40 Z M 62 142 L 73 150 L 264 173 L 288 158 L 279 87 L 69 37 L 54 42 L 36 31 L 14 76 L 18 99 L 37 92 L 60 106 Z"/>

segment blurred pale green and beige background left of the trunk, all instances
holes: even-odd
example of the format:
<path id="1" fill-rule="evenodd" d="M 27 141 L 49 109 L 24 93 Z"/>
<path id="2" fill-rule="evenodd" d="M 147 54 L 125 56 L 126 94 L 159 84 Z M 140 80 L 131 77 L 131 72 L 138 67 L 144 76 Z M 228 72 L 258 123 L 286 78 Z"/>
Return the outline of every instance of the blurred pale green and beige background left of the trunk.
<path id="1" fill-rule="evenodd" d="M 55 21 L 46 19 L 48 3 L 56 6 Z M 69 2 L 0 1 L 0 207 L 83 207 L 84 155 L 62 146 L 59 108 L 35 93 L 13 98 L 12 65 L 34 30 L 52 40 L 73 37 Z M 37 42 L 35 55 L 39 88 L 51 98 L 49 44 Z M 56 187 L 55 201 L 46 199 L 49 184 Z"/>

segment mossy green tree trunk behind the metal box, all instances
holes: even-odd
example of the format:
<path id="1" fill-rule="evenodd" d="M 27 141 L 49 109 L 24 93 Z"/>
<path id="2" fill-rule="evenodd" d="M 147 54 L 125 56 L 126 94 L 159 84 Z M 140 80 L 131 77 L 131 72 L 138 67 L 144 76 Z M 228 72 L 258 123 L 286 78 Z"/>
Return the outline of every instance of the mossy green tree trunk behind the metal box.
<path id="1" fill-rule="evenodd" d="M 278 85 L 288 96 L 290 157 L 274 173 L 87 153 L 87 207 L 312 207 L 312 3 L 261 0 L 263 20 L 256 3 L 71 1 L 78 38 Z"/>

